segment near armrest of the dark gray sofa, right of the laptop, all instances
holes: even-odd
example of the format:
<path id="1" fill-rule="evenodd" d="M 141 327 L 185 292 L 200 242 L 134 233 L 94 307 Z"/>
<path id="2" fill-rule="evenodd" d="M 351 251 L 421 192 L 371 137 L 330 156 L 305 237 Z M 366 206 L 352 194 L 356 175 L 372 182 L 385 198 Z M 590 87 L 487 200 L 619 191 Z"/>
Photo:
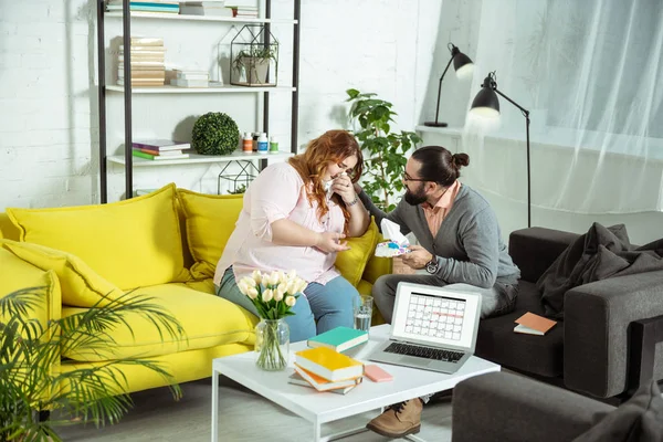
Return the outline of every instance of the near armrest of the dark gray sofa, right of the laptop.
<path id="1" fill-rule="evenodd" d="M 624 392 L 631 323 L 663 315 L 663 271 L 575 287 L 566 293 L 564 305 L 565 385 L 598 398 Z M 654 359 L 654 378 L 663 378 L 661 351 Z"/>

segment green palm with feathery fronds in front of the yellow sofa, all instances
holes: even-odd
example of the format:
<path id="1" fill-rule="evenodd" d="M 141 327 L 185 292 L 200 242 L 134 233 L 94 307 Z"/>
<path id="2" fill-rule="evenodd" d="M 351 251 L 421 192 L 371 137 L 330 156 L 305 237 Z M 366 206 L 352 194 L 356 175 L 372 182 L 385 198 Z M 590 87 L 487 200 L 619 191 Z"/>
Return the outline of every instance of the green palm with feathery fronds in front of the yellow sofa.
<path id="1" fill-rule="evenodd" d="M 186 339 L 179 322 L 151 298 L 129 292 L 44 324 L 35 313 L 46 308 L 46 297 L 45 287 L 31 287 L 0 298 L 0 441 L 61 441 L 59 425 L 116 423 L 133 404 L 122 366 L 152 370 L 181 397 L 170 373 L 149 359 L 61 360 L 64 352 L 103 354 L 117 346 L 112 330 L 129 327 L 128 316 L 157 327 L 164 339 Z M 48 411 L 50 419 L 39 419 Z"/>

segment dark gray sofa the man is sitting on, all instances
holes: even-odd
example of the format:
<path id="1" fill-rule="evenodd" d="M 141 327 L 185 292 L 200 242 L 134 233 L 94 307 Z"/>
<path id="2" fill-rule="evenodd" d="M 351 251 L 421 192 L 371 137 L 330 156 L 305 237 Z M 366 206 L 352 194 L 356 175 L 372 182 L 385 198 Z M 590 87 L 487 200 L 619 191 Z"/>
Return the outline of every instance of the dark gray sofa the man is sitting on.
<path id="1" fill-rule="evenodd" d="M 514 333 L 526 312 L 544 314 L 536 281 L 577 234 L 530 228 L 509 236 L 522 271 L 515 312 L 481 322 L 476 355 L 597 398 L 628 398 L 640 379 L 663 379 L 663 271 L 608 278 L 565 296 L 565 319 L 546 336 Z M 646 319 L 646 320 L 643 320 Z"/>

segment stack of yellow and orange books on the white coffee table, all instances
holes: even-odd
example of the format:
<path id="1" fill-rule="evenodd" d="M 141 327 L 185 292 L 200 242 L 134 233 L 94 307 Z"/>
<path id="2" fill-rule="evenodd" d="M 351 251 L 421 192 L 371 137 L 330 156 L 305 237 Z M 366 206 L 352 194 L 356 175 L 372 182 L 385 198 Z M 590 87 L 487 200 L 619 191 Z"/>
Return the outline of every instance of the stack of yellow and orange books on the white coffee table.
<path id="1" fill-rule="evenodd" d="M 295 354 L 295 373 L 291 383 L 304 385 L 317 391 L 345 394 L 364 379 L 364 364 L 327 347 L 308 348 Z"/>

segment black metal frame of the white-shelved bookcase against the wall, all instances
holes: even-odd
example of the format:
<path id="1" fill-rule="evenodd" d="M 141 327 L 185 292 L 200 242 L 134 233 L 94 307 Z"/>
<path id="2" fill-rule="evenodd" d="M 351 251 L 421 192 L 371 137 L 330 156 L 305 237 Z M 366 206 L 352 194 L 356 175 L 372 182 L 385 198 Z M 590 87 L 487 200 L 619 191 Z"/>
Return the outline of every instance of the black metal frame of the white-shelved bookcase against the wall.
<path id="1" fill-rule="evenodd" d="M 98 75 L 98 102 L 99 102 L 99 185 L 101 185 L 101 202 L 108 201 L 108 156 L 107 156 L 107 137 L 106 137 L 106 46 L 105 46 L 105 0 L 96 0 L 97 6 L 97 75 Z M 297 154 L 297 130 L 298 130 L 298 106 L 299 106 L 299 30 L 301 30 L 301 0 L 293 0 L 293 72 L 292 72 L 292 120 L 291 120 L 291 152 Z M 272 0 L 265 0 L 265 17 L 272 18 Z M 262 22 L 266 29 L 266 35 L 270 35 L 272 23 L 270 21 L 259 20 L 241 20 L 236 19 L 238 23 L 245 22 Z M 124 48 L 131 48 L 131 15 L 129 11 L 129 0 L 123 1 L 123 44 Z M 220 22 L 230 23 L 234 20 L 218 20 Z M 269 36 L 265 44 L 269 44 Z M 131 54 L 129 51 L 124 52 L 124 77 L 131 78 Z M 246 87 L 246 92 L 251 93 L 251 87 Z M 253 92 L 260 93 L 260 92 Z M 270 91 L 263 92 L 263 131 L 270 130 Z M 125 124 L 125 196 L 127 199 L 134 196 L 134 157 L 131 155 L 131 82 L 124 84 L 124 124 Z M 267 160 L 260 160 L 260 168 L 266 166 Z"/>

